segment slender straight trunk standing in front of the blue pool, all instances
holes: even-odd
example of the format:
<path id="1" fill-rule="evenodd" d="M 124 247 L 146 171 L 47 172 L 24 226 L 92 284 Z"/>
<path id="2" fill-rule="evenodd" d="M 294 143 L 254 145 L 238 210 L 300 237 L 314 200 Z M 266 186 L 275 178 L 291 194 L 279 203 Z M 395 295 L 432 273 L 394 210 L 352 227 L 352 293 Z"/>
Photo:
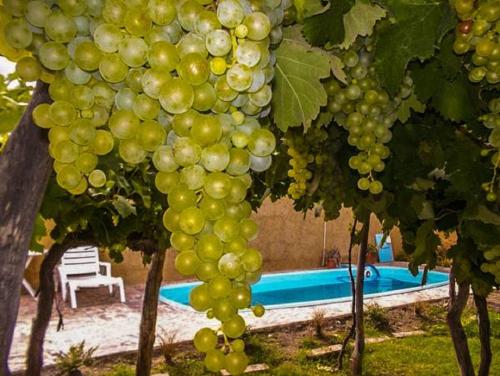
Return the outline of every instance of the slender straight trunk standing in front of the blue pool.
<path id="1" fill-rule="evenodd" d="M 356 338 L 351 355 L 351 374 L 360 376 L 363 369 L 363 352 L 365 350 L 365 326 L 363 320 L 363 283 L 365 280 L 366 255 L 368 253 L 368 234 L 370 233 L 370 216 L 367 216 L 361 230 L 361 246 L 358 265 L 356 266 Z"/>

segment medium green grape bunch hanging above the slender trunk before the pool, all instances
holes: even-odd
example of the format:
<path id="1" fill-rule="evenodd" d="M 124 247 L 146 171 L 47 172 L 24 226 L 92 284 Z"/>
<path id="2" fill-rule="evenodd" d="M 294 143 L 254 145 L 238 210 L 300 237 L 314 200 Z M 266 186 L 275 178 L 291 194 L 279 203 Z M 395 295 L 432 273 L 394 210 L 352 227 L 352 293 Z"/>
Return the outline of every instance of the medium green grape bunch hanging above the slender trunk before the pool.
<path id="1" fill-rule="evenodd" d="M 376 173 L 385 168 L 390 151 L 384 144 L 392 138 L 390 128 L 396 120 L 395 102 L 378 84 L 370 56 L 364 51 L 349 50 L 343 55 L 346 82 L 331 77 L 324 87 L 328 94 L 328 110 L 335 121 L 349 132 L 348 143 L 358 153 L 349 166 L 358 171 L 358 188 L 379 194 L 382 183 Z"/>

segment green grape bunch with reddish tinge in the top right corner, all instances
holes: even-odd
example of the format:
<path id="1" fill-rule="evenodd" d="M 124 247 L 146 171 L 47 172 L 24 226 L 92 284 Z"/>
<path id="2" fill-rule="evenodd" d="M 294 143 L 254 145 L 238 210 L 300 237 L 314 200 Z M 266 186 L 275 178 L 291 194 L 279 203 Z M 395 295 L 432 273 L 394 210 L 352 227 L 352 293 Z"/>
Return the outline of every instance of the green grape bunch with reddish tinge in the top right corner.
<path id="1" fill-rule="evenodd" d="M 453 50 L 459 55 L 469 51 L 469 79 L 500 82 L 500 1 L 457 0 L 455 10 L 460 19 Z"/>

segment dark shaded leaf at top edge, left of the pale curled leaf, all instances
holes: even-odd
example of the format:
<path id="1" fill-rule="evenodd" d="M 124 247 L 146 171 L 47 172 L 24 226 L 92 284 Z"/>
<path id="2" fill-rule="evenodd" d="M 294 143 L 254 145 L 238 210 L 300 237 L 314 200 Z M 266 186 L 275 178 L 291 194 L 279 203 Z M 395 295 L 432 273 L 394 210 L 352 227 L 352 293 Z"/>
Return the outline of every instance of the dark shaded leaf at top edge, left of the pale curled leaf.
<path id="1" fill-rule="evenodd" d="M 302 32 L 313 46 L 342 43 L 345 37 L 344 14 L 354 5 L 354 0 L 331 0 L 330 7 L 322 14 L 307 18 Z"/>

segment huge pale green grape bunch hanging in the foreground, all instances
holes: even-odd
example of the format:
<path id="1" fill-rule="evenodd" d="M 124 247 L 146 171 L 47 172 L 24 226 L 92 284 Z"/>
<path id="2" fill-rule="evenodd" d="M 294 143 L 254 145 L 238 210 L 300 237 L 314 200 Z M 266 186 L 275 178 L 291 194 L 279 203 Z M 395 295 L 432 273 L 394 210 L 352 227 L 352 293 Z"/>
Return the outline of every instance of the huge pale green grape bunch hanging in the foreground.
<path id="1" fill-rule="evenodd" d="M 163 216 L 175 265 L 203 283 L 192 307 L 221 322 L 195 346 L 211 371 L 240 374 L 248 358 L 241 309 L 262 257 L 246 201 L 250 170 L 269 168 L 276 140 L 263 127 L 281 38 L 280 0 L 7 0 L 10 47 L 26 50 L 24 80 L 50 83 L 52 104 L 33 112 L 49 130 L 58 184 L 100 188 L 99 157 L 117 151 L 129 165 L 152 163 L 167 195 Z M 252 308 L 261 316 L 261 305 Z M 218 334 L 224 343 L 218 345 Z"/>

